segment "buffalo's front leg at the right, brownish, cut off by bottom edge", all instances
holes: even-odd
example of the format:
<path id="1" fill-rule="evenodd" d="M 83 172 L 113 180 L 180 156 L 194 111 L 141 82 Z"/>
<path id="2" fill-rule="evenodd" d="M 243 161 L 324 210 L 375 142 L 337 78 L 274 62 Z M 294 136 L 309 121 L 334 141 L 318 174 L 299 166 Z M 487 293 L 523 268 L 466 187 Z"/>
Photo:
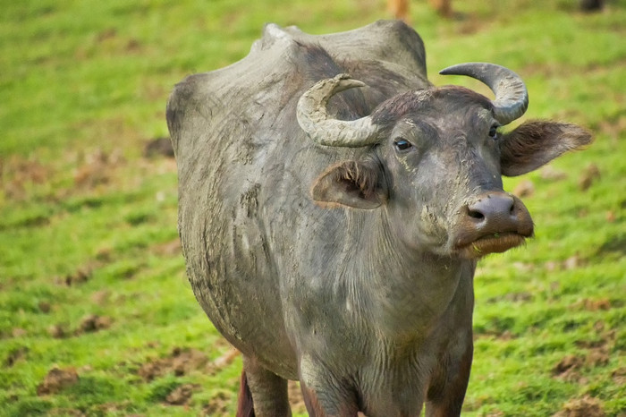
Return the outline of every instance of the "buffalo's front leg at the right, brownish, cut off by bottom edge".
<path id="1" fill-rule="evenodd" d="M 461 415 L 461 407 L 469 382 L 469 370 L 473 354 L 471 341 L 462 356 L 456 359 L 457 366 L 449 374 L 441 387 L 428 391 L 426 404 L 427 417 L 447 417 Z M 454 361 L 454 360 L 453 360 Z"/>

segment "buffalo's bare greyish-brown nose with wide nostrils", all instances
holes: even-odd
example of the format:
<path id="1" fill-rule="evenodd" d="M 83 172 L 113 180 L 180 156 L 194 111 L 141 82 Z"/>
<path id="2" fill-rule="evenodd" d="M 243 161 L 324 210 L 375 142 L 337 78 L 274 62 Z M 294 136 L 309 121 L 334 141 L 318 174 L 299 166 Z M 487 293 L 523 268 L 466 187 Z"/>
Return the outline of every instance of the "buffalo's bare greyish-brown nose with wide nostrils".
<path id="1" fill-rule="evenodd" d="M 479 196 L 467 206 L 467 216 L 479 234 L 532 234 L 532 220 L 524 204 L 503 192 Z"/>

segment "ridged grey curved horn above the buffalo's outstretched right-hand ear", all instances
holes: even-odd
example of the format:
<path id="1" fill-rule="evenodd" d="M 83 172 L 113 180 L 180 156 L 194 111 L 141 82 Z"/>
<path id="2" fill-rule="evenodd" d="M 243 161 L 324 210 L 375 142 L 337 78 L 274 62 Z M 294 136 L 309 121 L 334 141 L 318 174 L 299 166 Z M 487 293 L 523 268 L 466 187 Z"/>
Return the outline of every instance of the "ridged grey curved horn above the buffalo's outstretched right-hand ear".
<path id="1" fill-rule="evenodd" d="M 515 72 L 496 64 L 466 63 L 453 65 L 439 72 L 442 75 L 467 75 L 484 82 L 494 91 L 495 120 L 511 123 L 526 112 L 529 92 Z"/>

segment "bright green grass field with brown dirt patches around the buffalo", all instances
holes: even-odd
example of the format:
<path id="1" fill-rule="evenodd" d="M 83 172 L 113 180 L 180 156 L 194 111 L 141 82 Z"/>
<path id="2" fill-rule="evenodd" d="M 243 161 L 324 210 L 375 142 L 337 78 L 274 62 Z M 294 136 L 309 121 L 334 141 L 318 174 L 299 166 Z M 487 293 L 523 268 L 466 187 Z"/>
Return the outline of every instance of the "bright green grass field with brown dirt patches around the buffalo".
<path id="1" fill-rule="evenodd" d="M 411 21 L 436 84 L 488 61 L 527 82 L 525 118 L 588 149 L 507 180 L 536 223 L 482 261 L 463 415 L 626 415 L 626 1 L 467 0 Z M 383 0 L 0 0 L 0 415 L 231 415 L 241 372 L 200 310 L 176 231 L 165 101 L 246 55 L 262 25 L 389 17 Z M 303 413 L 301 404 L 296 407 Z"/>

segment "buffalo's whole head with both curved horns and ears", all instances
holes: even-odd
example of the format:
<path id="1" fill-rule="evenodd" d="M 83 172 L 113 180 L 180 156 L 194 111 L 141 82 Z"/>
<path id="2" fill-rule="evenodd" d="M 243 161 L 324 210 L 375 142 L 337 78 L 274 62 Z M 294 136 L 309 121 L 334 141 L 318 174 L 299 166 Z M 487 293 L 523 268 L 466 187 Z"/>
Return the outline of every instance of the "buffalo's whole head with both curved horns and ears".
<path id="1" fill-rule="evenodd" d="M 311 139 L 370 149 L 328 167 L 312 197 L 326 207 L 382 209 L 402 243 L 421 251 L 464 258 L 506 251 L 532 236 L 533 223 L 524 204 L 503 191 L 502 175 L 528 173 L 591 137 L 579 126 L 546 121 L 502 132 L 529 104 L 523 81 L 502 66 L 460 64 L 441 73 L 482 81 L 495 98 L 457 86 L 419 89 L 344 121 L 328 115 L 328 100 L 365 84 L 340 74 L 304 93 L 298 121 Z"/>

